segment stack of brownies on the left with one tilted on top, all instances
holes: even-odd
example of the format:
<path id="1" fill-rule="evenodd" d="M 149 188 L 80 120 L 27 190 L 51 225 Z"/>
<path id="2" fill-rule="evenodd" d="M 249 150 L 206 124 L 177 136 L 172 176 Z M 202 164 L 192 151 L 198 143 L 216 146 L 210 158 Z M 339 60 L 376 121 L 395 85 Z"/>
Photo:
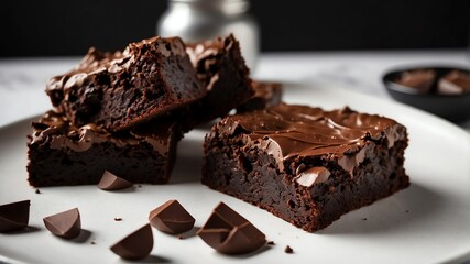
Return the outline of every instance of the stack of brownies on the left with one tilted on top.
<path id="1" fill-rule="evenodd" d="M 46 94 L 54 109 L 29 135 L 30 184 L 97 184 L 105 170 L 167 183 L 183 134 L 253 96 L 233 35 L 198 53 L 192 63 L 179 37 L 155 36 L 123 52 L 90 48 L 75 69 L 53 77 Z"/>

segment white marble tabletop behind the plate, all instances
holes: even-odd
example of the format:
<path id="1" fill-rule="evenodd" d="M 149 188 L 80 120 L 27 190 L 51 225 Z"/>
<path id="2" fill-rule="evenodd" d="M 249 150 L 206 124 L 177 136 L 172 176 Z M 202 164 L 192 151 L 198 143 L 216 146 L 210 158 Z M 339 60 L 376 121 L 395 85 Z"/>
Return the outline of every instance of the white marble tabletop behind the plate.
<path id="1" fill-rule="evenodd" d="M 0 59 L 0 127 L 50 109 L 45 82 L 78 61 L 79 57 Z M 415 64 L 470 67 L 463 50 L 269 53 L 261 55 L 253 75 L 281 81 L 335 84 L 392 100 L 383 89 L 383 74 Z M 470 132 L 470 121 L 459 125 Z"/>

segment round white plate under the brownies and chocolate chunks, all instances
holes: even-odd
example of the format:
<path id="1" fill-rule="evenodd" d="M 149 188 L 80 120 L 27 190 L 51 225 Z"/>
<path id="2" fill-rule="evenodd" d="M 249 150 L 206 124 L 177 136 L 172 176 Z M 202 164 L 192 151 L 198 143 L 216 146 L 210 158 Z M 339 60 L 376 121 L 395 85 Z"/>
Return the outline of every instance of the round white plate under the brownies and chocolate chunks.
<path id="1" fill-rule="evenodd" d="M 150 210 L 168 199 L 178 199 L 196 218 L 197 227 L 219 201 L 225 201 L 275 245 L 249 256 L 226 256 L 197 237 L 179 240 L 154 230 L 152 255 L 143 262 L 441 263 L 470 258 L 470 136 L 463 130 L 409 107 L 337 87 L 291 84 L 285 99 L 326 109 L 349 105 L 405 124 L 411 139 L 405 165 L 411 187 L 352 211 L 325 230 L 307 233 L 200 185 L 201 141 L 206 133 L 201 129 L 187 134 L 178 145 L 168 185 L 143 185 L 121 193 L 102 191 L 95 186 L 54 187 L 35 194 L 26 183 L 30 120 L 25 120 L 0 130 L 0 204 L 31 199 L 32 228 L 29 232 L 0 234 L 0 255 L 3 261 L 25 263 L 124 262 L 109 246 L 146 223 Z M 80 210 L 87 231 L 81 240 L 62 240 L 44 228 L 44 217 L 74 207 Z M 123 220 L 114 221 L 114 217 Z M 286 245 L 295 253 L 284 253 Z"/>

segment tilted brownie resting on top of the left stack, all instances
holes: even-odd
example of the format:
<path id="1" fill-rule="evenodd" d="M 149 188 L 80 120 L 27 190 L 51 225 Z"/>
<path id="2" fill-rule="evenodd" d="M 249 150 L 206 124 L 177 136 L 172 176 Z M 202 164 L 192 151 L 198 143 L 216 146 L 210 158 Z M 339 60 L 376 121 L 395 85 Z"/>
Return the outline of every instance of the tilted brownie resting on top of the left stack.
<path id="1" fill-rule="evenodd" d="M 182 40 L 155 36 L 122 53 L 90 48 L 74 70 L 53 77 L 46 92 L 74 124 L 118 131 L 196 101 L 207 90 Z"/>

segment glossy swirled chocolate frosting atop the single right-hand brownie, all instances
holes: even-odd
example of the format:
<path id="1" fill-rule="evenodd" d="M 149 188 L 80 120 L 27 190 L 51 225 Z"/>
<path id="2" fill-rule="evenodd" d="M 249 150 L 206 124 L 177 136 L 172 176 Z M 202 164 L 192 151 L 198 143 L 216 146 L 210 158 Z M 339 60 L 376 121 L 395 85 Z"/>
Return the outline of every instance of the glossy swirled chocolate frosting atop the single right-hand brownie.
<path id="1" fill-rule="evenodd" d="M 403 125 L 376 114 L 359 113 L 347 107 L 324 111 L 285 103 L 229 116 L 217 124 L 216 130 L 227 135 L 245 134 L 247 145 L 266 148 L 282 167 L 284 161 L 296 157 L 326 155 L 329 160 L 341 158 L 368 141 L 386 140 L 387 147 L 392 147 L 395 141 L 405 136 Z M 361 158 L 360 153 L 354 156 Z M 348 164 L 350 162 L 347 158 L 339 161 L 348 167 L 356 165 Z"/>

